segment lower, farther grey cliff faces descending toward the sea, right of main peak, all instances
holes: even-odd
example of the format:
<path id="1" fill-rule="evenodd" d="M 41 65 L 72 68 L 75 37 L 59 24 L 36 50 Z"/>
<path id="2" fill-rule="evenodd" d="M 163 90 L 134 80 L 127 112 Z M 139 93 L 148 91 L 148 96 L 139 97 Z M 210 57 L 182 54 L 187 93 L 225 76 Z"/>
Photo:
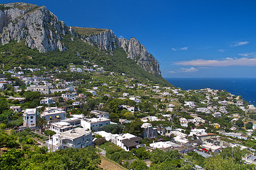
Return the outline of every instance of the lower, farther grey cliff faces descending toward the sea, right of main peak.
<path id="1" fill-rule="evenodd" d="M 161 74 L 158 61 L 134 37 L 131 37 L 130 40 L 120 39 L 117 38 L 112 30 L 81 37 L 88 44 L 97 46 L 101 50 L 113 50 L 121 47 L 127 53 L 127 58 L 136 61 L 137 65 L 141 66 L 148 73 L 156 77 Z"/>

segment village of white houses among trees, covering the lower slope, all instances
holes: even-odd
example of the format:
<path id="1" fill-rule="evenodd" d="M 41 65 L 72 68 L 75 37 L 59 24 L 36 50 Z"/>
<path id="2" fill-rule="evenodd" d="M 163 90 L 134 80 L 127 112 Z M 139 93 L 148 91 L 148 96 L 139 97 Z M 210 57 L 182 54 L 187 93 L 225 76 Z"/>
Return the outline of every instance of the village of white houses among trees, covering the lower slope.
<path id="1" fill-rule="evenodd" d="M 2 71 L 0 128 L 42 133 L 43 139 L 34 138 L 32 143 L 48 152 L 95 145 L 104 150 L 111 142 L 133 153 L 158 148 L 209 158 L 239 147 L 247 151 L 243 162 L 256 164 L 256 108 L 242 96 L 210 88 L 164 87 L 84 63 L 64 71 L 46 67 Z M 196 166 L 203 169 L 202 164 Z"/>

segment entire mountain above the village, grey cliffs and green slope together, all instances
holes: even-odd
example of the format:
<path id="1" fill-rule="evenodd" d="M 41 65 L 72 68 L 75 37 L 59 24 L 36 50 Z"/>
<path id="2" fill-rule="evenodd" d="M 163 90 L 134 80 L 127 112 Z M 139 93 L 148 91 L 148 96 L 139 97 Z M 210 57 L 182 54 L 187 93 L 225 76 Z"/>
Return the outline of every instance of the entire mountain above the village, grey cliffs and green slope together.
<path id="1" fill-rule="evenodd" d="M 172 86 L 159 63 L 137 39 L 119 39 L 110 29 L 67 27 L 45 6 L 8 3 L 0 8 L 1 69 L 14 66 L 65 69 L 89 60 L 106 71 Z"/>

